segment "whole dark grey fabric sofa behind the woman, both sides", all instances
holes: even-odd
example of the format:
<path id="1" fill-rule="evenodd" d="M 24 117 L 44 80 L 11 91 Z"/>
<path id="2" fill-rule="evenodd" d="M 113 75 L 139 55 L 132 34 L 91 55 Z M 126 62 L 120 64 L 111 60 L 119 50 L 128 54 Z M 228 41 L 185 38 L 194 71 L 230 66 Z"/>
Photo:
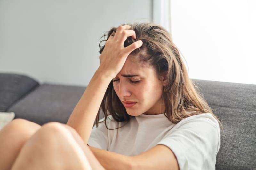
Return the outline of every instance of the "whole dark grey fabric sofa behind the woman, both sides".
<path id="1" fill-rule="evenodd" d="M 216 169 L 256 169 L 256 85 L 193 81 L 223 125 Z M 40 125 L 66 123 L 85 88 L 0 73 L 0 112 Z"/>

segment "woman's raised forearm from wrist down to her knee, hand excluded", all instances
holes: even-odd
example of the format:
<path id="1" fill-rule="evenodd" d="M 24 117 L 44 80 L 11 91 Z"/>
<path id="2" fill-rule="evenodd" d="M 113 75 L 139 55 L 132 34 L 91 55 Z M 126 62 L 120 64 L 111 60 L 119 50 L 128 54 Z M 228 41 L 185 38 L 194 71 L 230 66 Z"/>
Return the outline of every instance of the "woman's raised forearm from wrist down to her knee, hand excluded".
<path id="1" fill-rule="evenodd" d="M 111 79 L 98 69 L 68 119 L 67 125 L 78 132 L 85 144 L 90 137 L 94 120 L 110 81 Z"/>

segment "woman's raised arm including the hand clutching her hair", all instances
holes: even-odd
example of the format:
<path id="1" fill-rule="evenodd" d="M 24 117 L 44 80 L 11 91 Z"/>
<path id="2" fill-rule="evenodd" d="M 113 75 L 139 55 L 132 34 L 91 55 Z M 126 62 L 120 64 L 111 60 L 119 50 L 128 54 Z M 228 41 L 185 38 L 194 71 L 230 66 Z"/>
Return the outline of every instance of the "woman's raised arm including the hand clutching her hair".
<path id="1" fill-rule="evenodd" d="M 120 72 L 128 55 L 142 45 L 140 40 L 124 47 L 127 37 L 136 38 L 135 31 L 129 29 L 131 26 L 119 26 L 114 36 L 106 41 L 100 55 L 100 66 L 68 119 L 67 125 L 78 132 L 85 144 L 109 82 Z"/>

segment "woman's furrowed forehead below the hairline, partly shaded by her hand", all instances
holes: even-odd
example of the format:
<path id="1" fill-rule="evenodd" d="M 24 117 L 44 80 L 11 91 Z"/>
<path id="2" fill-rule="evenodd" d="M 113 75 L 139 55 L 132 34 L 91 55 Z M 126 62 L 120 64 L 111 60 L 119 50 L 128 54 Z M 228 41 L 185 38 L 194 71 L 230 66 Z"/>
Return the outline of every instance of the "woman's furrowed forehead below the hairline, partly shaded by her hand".
<path id="1" fill-rule="evenodd" d="M 155 73 L 155 69 L 147 62 L 140 61 L 137 55 L 129 55 L 120 74 L 139 74 L 147 76 Z"/>

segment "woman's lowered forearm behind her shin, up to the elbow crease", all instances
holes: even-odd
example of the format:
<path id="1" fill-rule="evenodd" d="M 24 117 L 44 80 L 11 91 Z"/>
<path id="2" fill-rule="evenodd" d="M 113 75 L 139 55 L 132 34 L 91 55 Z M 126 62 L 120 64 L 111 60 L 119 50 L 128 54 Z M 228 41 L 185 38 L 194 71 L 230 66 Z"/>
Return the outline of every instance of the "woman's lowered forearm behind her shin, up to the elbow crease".
<path id="1" fill-rule="evenodd" d="M 132 157 L 89 146 L 92 153 L 106 170 L 131 170 Z"/>

